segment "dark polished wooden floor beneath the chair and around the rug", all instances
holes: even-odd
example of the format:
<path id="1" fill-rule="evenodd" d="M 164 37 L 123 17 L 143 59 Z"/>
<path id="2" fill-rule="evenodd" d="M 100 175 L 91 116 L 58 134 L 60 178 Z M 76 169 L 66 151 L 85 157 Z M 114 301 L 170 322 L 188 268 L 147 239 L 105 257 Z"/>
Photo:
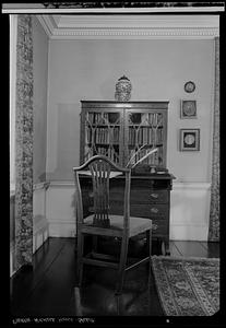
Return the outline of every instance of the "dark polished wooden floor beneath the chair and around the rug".
<path id="1" fill-rule="evenodd" d="M 133 255 L 139 256 L 143 245 L 138 242 L 134 245 Z M 110 247 L 116 249 L 117 243 Z M 33 269 L 24 269 L 11 279 L 12 316 L 164 315 L 152 274 L 148 284 L 145 266 L 126 274 L 120 298 L 114 295 L 116 274 L 112 269 L 86 266 L 84 286 L 81 290 L 74 289 L 74 249 L 73 238 L 49 238 L 38 249 L 34 256 Z M 158 244 L 153 244 L 153 254 L 159 254 Z M 219 257 L 219 245 L 170 242 L 170 254 L 185 257 Z"/>

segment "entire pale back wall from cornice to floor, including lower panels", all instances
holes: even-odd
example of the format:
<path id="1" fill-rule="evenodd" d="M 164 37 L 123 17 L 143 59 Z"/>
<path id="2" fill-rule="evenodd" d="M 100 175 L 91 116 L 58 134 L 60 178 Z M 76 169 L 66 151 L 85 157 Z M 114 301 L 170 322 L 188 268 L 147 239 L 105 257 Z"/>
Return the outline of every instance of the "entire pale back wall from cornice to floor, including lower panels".
<path id="1" fill-rule="evenodd" d="M 167 167 L 176 176 L 170 238 L 207 238 L 213 39 L 57 40 L 49 44 L 47 113 L 48 222 L 50 235 L 72 236 L 73 176 L 79 165 L 80 101 L 114 99 L 122 74 L 132 82 L 131 101 L 169 101 Z M 194 93 L 183 85 L 194 81 Z M 180 99 L 197 99 L 198 119 L 180 119 Z M 179 151 L 179 129 L 200 128 L 200 152 Z M 68 183 L 68 184 L 67 184 Z M 61 184 L 59 186 L 59 184 Z M 185 188 L 186 186 L 186 188 Z M 57 201 L 56 201 L 57 200 Z"/>

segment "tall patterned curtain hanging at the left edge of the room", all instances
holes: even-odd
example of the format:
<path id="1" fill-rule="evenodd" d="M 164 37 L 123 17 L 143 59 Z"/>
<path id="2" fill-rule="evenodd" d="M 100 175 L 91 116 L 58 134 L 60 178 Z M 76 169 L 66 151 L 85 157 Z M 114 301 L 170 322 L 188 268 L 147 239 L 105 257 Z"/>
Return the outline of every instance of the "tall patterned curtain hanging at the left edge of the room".
<path id="1" fill-rule="evenodd" d="M 15 109 L 15 270 L 33 255 L 32 16 L 17 16 Z"/>

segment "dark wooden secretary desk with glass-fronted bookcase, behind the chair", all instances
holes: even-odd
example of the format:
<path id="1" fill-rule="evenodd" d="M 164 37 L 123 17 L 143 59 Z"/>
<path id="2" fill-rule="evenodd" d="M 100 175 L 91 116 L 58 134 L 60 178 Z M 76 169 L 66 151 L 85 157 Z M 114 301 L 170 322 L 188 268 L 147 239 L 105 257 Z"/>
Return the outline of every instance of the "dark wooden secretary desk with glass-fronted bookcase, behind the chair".
<path id="1" fill-rule="evenodd" d="M 130 215 L 153 221 L 153 238 L 169 255 L 170 190 L 166 167 L 168 102 L 82 101 L 80 164 L 96 154 L 131 171 Z M 157 151 L 139 162 L 150 150 Z M 135 165 L 135 163 L 138 163 Z M 123 176 L 110 179 L 110 213 L 123 210 Z M 92 180 L 81 176 L 85 215 L 92 213 Z"/>

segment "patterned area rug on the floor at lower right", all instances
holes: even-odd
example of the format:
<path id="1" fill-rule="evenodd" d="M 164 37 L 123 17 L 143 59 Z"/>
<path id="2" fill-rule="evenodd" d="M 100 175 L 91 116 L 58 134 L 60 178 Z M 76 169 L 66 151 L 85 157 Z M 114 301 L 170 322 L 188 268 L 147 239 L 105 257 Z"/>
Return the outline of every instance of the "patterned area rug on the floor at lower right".
<path id="1" fill-rule="evenodd" d="M 152 257 L 167 316 L 211 316 L 219 309 L 219 259 Z"/>

